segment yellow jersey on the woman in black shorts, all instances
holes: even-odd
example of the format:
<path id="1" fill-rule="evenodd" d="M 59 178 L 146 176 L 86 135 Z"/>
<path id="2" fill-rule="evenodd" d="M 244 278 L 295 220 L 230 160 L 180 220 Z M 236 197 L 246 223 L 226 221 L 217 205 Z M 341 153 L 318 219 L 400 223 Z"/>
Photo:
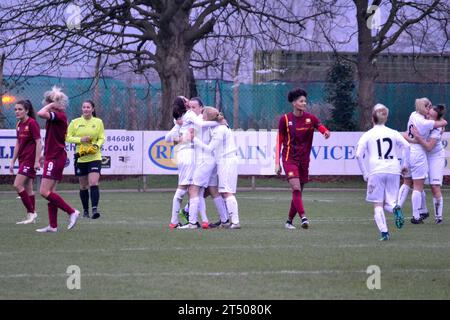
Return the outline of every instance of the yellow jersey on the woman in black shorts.
<path id="1" fill-rule="evenodd" d="M 89 143 L 81 142 L 81 138 L 89 136 L 91 141 Z M 105 142 L 105 128 L 103 121 L 96 117 L 91 117 L 86 120 L 84 117 L 73 119 L 69 128 L 67 129 L 66 141 L 76 144 L 76 151 L 80 151 L 80 146 L 88 148 L 91 145 L 97 145 L 98 151 L 95 154 L 86 154 L 78 158 L 78 162 L 91 162 L 102 160 L 101 146 Z"/>

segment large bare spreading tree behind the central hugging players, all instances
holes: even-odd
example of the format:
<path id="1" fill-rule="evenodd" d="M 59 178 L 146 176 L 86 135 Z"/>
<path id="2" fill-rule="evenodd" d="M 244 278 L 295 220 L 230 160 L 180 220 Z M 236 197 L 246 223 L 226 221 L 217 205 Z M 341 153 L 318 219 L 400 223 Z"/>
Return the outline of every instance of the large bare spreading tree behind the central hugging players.
<path id="1" fill-rule="evenodd" d="M 291 11 L 295 0 L 17 0 L 0 4 L 0 42 L 16 72 L 45 72 L 91 61 L 126 64 L 133 71 L 157 71 L 162 85 L 161 129 L 171 124 L 175 96 L 189 92 L 192 52 L 207 36 L 280 42 L 301 34 L 308 14 Z M 319 13 L 322 14 L 322 13 Z M 317 15 L 317 13 L 314 13 Z M 214 29 L 218 25 L 221 29 Z M 228 23 L 227 23 L 228 21 Z M 235 34 L 231 21 L 241 31 Z M 253 22 L 255 29 L 248 27 Z M 251 32 L 249 32 L 251 30 Z"/>

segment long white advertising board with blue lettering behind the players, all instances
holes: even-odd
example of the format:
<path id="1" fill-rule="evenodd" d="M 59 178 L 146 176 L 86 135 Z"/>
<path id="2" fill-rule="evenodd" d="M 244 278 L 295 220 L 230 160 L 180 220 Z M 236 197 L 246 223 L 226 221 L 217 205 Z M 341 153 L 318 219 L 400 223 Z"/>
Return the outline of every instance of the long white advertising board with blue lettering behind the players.
<path id="1" fill-rule="evenodd" d="M 176 147 L 164 141 L 166 131 L 106 130 L 102 148 L 102 174 L 177 174 Z M 45 137 L 45 131 L 41 131 Z M 329 139 L 314 134 L 310 175 L 360 175 L 355 159 L 362 132 L 332 132 Z M 240 175 L 273 175 L 276 130 L 235 131 Z M 444 174 L 450 175 L 450 133 L 443 136 L 446 150 Z M 16 142 L 15 130 L 0 130 L 0 174 L 9 174 Z M 64 174 L 73 175 L 74 146 L 66 145 L 68 163 Z M 17 163 L 16 163 L 17 166 Z"/>

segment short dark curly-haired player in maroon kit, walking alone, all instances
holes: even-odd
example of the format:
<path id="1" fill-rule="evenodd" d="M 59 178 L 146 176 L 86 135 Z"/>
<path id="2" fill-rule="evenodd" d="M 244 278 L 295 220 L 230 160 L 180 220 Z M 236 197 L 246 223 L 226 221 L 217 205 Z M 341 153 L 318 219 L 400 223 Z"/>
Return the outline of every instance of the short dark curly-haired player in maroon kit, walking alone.
<path id="1" fill-rule="evenodd" d="M 292 189 L 291 208 L 289 210 L 286 229 L 295 229 L 292 220 L 298 212 L 301 227 L 309 227 L 308 218 L 303 208 L 302 191 L 309 180 L 309 160 L 314 137 L 314 129 L 320 131 L 325 139 L 330 137 L 330 131 L 320 120 L 306 112 L 307 93 L 296 88 L 288 93 L 288 101 L 292 103 L 292 112 L 281 116 L 278 124 L 278 137 L 275 156 L 275 172 L 281 173 L 280 157 L 284 172 Z"/>

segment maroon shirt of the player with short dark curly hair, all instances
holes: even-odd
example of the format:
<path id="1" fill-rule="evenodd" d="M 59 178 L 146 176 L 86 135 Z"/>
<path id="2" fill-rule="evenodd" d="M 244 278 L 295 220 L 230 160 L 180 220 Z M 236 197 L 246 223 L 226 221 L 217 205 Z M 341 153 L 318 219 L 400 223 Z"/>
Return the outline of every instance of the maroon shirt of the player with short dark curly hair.
<path id="1" fill-rule="evenodd" d="M 320 125 L 320 120 L 308 112 L 303 112 L 300 117 L 294 116 L 293 112 L 281 116 L 278 132 L 283 145 L 283 162 L 309 162 L 314 129 Z"/>

